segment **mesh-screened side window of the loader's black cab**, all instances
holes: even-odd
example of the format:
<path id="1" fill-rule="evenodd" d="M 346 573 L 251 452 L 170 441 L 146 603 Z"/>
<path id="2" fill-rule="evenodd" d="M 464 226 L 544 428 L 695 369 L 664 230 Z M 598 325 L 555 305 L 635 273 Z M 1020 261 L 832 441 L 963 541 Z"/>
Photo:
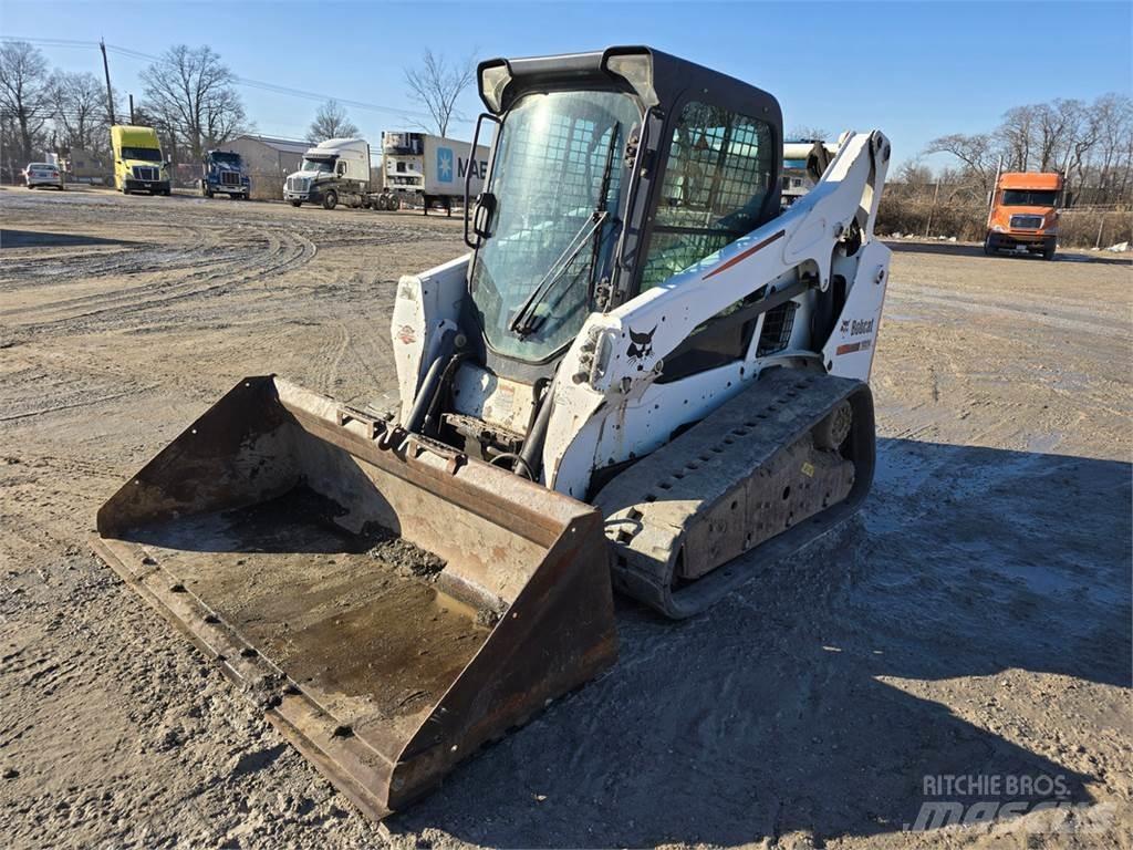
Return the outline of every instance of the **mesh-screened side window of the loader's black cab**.
<path id="1" fill-rule="evenodd" d="M 642 291 L 761 223 L 775 188 L 773 141 L 758 118 L 697 101 L 684 107 L 670 144 Z"/>

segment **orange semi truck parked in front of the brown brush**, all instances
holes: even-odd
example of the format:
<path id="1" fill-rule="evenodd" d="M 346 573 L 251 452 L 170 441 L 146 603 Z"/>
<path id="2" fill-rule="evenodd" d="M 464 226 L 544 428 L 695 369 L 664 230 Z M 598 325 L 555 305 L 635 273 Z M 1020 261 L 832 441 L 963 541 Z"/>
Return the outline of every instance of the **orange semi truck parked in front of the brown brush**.
<path id="1" fill-rule="evenodd" d="M 1006 171 L 996 180 L 983 253 L 1022 250 L 1055 258 L 1058 241 L 1059 173 Z"/>

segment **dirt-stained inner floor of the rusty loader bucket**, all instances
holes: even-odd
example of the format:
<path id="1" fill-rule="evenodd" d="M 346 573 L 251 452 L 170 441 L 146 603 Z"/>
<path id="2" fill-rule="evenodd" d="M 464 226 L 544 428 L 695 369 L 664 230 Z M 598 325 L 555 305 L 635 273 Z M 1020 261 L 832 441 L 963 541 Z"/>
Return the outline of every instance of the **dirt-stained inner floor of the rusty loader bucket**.
<path id="1" fill-rule="evenodd" d="M 295 685 L 407 740 L 491 631 L 437 587 L 443 561 L 387 529 L 347 532 L 306 485 L 134 533 L 148 556 Z"/>

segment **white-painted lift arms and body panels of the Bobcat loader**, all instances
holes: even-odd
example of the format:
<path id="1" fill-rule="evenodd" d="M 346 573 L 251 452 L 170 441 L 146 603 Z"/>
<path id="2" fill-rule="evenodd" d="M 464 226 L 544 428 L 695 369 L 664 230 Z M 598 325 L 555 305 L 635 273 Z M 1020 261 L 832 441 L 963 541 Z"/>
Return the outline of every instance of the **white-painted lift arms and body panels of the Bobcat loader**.
<path id="1" fill-rule="evenodd" d="M 891 252 L 874 239 L 888 164 L 881 153 L 888 146 L 877 131 L 846 134 L 815 188 L 783 215 L 616 309 L 591 314 L 552 388 L 554 409 L 543 449 L 545 484 L 585 498 L 595 469 L 649 453 L 772 366 L 812 362 L 828 374 L 868 381 L 888 282 Z M 832 261 L 835 245 L 859 218 L 864 219 L 859 226 L 861 248 L 852 257 Z M 403 414 L 412 407 L 424 365 L 432 362 L 441 335 L 457 328 L 468 261 L 466 255 L 406 275 L 398 286 L 392 345 Z M 817 291 L 835 274 L 847 283 L 835 332 L 820 356 L 787 346 L 758 357 L 757 329 L 743 359 L 671 383 L 656 382 L 665 356 L 695 328 L 760 284 L 773 289 L 793 282 L 800 267 L 816 270 Z M 798 334 L 804 332 L 815 298 L 811 290 L 794 299 Z M 638 354 L 630 351 L 631 332 L 650 332 L 648 349 L 637 357 L 630 356 Z M 462 367 L 461 375 L 468 368 Z M 576 375 L 585 377 L 574 381 Z M 530 414 L 531 389 L 519 382 L 466 377 L 461 386 L 467 388 L 459 396 L 461 413 L 509 428 Z"/>

